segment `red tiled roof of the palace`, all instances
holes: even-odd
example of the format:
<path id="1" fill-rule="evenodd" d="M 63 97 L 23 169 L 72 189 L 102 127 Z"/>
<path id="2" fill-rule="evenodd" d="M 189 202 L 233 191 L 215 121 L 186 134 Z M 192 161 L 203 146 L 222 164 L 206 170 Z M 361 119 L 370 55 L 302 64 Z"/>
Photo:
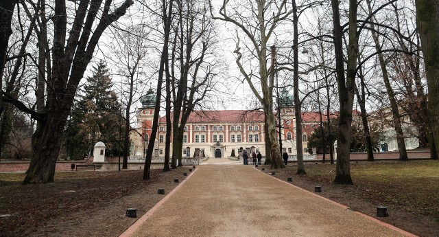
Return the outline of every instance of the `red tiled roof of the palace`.
<path id="1" fill-rule="evenodd" d="M 172 117 L 172 113 L 171 113 Z M 263 111 L 224 110 L 224 111 L 193 111 L 189 115 L 188 123 L 224 123 L 224 122 L 264 122 Z M 166 122 L 166 117 L 160 118 Z"/>

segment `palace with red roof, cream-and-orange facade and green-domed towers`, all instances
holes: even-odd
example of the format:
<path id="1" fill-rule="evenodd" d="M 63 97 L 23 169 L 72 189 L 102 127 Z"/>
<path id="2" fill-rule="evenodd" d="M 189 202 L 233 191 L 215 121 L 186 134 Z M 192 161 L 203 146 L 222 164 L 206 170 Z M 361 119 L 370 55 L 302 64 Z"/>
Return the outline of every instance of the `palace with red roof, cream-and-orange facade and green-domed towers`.
<path id="1" fill-rule="evenodd" d="M 137 131 L 132 133 L 131 136 L 130 153 L 133 156 L 142 157 L 148 142 L 150 142 L 155 98 L 156 95 L 152 89 L 141 97 L 142 106 L 137 115 Z M 280 102 L 282 147 L 289 155 L 296 155 L 296 140 L 294 139 L 296 119 L 292 95 L 284 90 Z M 278 115 L 274 114 L 273 116 Z M 276 117 L 276 121 L 278 121 L 278 117 Z M 160 117 L 157 136 L 155 137 L 154 157 L 164 157 L 165 155 L 165 134 L 167 129 L 165 116 Z M 185 126 L 182 156 L 221 158 L 230 157 L 234 154 L 238 157 L 243 150 L 261 152 L 265 156 L 264 129 L 263 111 L 193 111 Z M 307 131 L 311 129 L 307 129 L 306 124 L 302 129 L 305 132 L 303 147 L 306 152 Z"/>

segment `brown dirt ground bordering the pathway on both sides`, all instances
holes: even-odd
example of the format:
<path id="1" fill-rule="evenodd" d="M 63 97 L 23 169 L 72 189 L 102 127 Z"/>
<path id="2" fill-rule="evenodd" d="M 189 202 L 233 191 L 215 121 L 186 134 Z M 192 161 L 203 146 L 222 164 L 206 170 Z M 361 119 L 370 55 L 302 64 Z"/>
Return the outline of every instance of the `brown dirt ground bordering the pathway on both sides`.
<path id="1" fill-rule="evenodd" d="M 189 174 L 183 167 L 171 172 L 151 171 L 142 180 L 143 170 L 123 172 L 58 172 L 56 181 L 46 185 L 21 185 L 24 174 L 0 174 L 0 236 L 118 236 L 137 218 L 126 217 L 127 208 L 137 208 L 137 216 L 150 210 L 160 199 L 158 188 L 170 192 Z M 264 172 L 271 174 L 269 166 Z M 353 210 L 376 215 L 378 205 L 386 205 L 390 216 L 379 218 L 418 236 L 439 236 L 438 222 L 388 205 L 356 185 L 332 185 L 292 175 L 292 169 L 273 170 L 278 179 L 305 190 L 322 185 L 322 196 Z"/>

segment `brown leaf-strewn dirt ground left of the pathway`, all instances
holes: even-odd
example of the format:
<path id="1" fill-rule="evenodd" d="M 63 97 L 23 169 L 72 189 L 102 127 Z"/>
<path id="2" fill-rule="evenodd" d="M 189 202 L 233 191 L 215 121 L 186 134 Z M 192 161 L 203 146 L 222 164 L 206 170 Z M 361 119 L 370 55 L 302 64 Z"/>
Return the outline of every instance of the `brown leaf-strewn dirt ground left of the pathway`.
<path id="1" fill-rule="evenodd" d="M 147 181 L 143 170 L 59 172 L 46 185 L 21 185 L 0 174 L 0 236 L 118 236 L 137 219 L 126 217 L 127 208 L 145 214 L 163 198 L 158 189 L 167 194 L 188 169 L 151 170 Z"/>

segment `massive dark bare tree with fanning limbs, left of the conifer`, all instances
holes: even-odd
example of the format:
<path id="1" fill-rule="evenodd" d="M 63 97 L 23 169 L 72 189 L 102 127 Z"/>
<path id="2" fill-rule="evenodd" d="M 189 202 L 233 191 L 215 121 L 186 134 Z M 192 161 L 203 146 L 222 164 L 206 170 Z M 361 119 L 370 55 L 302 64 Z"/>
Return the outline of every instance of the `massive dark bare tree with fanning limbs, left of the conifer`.
<path id="1" fill-rule="evenodd" d="M 101 3 L 100 0 L 92 2 L 82 0 L 79 3 L 66 3 L 63 0 L 53 2 L 54 5 L 51 6 L 53 15 L 49 17 L 54 22 L 51 27 L 54 38 L 51 39 L 51 43 L 45 42 L 45 48 L 51 49 L 54 57 L 51 58 L 51 73 L 45 78 L 47 100 L 44 113 L 29 109 L 23 102 L 15 100 L 8 94 L 2 95 L 3 101 L 14 104 L 17 109 L 29 113 L 39 122 L 32 136 L 32 160 L 23 183 L 54 181 L 62 131 L 78 84 L 104 30 L 123 16 L 133 1 L 123 1 L 112 12 L 110 12 L 111 1 Z M 36 12 L 39 10 L 35 9 Z M 98 12 L 100 19 L 97 19 Z M 73 19 L 72 24 L 67 21 L 68 18 Z M 0 28 L 3 27 L 8 25 L 0 25 Z M 46 66 L 49 68 L 49 65 Z M 1 69 L 3 70 L 3 64 Z"/>

